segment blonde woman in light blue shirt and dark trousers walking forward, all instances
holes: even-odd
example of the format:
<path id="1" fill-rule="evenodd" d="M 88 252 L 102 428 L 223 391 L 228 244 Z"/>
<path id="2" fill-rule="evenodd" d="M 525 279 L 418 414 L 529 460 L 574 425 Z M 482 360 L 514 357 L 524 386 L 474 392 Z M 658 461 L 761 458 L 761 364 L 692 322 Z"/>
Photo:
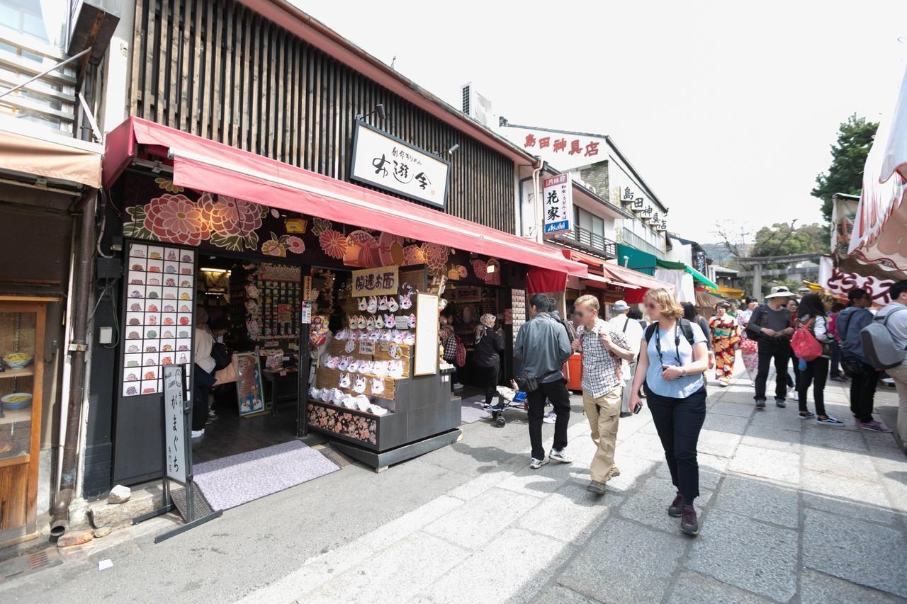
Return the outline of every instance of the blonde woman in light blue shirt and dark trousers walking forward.
<path id="1" fill-rule="evenodd" d="M 681 531 L 696 535 L 699 522 L 693 500 L 699 496 L 696 445 L 706 420 L 706 336 L 683 318 L 683 307 L 667 289 L 649 289 L 645 307 L 652 325 L 639 346 L 629 405 L 633 410 L 642 405 L 639 386 L 644 385 L 671 481 L 678 489 L 668 514 L 680 518 Z"/>

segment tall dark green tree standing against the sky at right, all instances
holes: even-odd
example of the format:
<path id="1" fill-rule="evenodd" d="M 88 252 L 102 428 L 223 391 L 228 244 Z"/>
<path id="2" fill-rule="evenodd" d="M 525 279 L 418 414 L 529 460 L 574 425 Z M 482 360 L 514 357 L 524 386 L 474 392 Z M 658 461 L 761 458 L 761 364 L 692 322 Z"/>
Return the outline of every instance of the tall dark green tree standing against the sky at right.
<path id="1" fill-rule="evenodd" d="M 863 166 L 873 144 L 879 122 L 867 122 L 856 113 L 838 127 L 838 141 L 832 145 L 832 165 L 815 177 L 813 197 L 822 200 L 822 215 L 832 221 L 832 195 L 859 195 L 863 188 Z"/>

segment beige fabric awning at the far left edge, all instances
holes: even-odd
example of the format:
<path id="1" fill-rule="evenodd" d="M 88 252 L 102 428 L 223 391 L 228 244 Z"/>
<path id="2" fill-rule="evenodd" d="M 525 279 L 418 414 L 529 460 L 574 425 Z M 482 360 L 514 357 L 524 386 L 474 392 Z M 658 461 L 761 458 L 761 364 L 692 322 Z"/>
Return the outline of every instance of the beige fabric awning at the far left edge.
<path id="1" fill-rule="evenodd" d="M 0 120 L 0 168 L 45 179 L 101 186 L 101 146 L 48 132 L 22 120 Z"/>

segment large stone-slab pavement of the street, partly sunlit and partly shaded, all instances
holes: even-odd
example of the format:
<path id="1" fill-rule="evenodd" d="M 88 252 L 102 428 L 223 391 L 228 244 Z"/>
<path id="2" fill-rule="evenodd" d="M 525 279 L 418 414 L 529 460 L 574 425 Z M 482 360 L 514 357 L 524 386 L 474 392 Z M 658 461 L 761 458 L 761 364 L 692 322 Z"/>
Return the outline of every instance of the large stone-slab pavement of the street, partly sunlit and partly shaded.
<path id="1" fill-rule="evenodd" d="M 907 457 L 854 427 L 845 386 L 825 398 L 844 428 L 801 421 L 791 399 L 756 412 L 745 375 L 713 384 L 695 539 L 668 517 L 646 409 L 620 424 L 621 475 L 603 498 L 585 491 L 594 444 L 580 422 L 571 465 L 533 472 L 527 447 L 242 601 L 907 601 Z M 892 405 L 883 388 L 877 408 Z"/>

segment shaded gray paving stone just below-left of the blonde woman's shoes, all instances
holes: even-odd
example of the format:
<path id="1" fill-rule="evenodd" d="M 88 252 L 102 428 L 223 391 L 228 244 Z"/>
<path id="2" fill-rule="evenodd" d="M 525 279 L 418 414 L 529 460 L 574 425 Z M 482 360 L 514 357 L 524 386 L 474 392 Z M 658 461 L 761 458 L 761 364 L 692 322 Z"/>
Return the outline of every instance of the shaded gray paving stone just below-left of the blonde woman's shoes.
<path id="1" fill-rule="evenodd" d="M 658 602 L 668 591 L 687 543 L 683 535 L 612 519 L 571 560 L 557 582 L 602 602 Z"/>

